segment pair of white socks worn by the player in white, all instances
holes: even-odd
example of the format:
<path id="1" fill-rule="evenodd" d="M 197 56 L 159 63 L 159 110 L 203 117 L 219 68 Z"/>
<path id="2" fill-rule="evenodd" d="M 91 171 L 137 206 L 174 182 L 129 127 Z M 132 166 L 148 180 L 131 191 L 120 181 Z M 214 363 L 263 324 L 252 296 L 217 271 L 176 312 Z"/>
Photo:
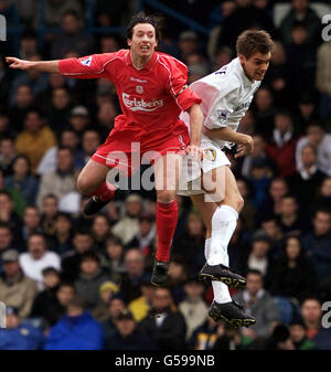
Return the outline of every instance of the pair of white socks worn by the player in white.
<path id="1" fill-rule="evenodd" d="M 205 240 L 204 255 L 209 265 L 222 264 L 228 267 L 227 246 L 237 225 L 238 213 L 229 205 L 221 205 L 212 217 L 212 237 Z M 212 281 L 214 300 L 231 302 L 228 287 L 222 281 Z"/>

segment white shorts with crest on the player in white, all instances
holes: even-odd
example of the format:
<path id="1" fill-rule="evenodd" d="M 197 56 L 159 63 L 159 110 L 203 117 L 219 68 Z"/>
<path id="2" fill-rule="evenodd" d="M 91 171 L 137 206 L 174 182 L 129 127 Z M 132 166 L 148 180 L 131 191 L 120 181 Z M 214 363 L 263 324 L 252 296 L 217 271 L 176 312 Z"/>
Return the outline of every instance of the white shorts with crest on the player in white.
<path id="1" fill-rule="evenodd" d="M 183 158 L 180 184 L 177 192 L 179 195 L 189 196 L 205 193 L 200 187 L 202 172 L 207 173 L 215 168 L 231 166 L 226 155 L 213 142 L 203 141 L 200 147 L 204 152 L 201 162 L 194 161 L 189 157 Z"/>

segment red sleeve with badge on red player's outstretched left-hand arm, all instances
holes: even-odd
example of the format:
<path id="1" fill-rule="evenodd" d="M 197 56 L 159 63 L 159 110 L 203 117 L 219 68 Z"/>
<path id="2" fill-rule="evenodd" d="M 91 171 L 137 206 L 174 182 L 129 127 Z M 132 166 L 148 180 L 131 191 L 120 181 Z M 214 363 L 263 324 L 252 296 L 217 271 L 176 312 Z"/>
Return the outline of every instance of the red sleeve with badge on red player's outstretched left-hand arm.
<path id="1" fill-rule="evenodd" d="M 75 78 L 111 78 L 109 68 L 105 67 L 116 59 L 116 53 L 92 54 L 79 59 L 58 61 L 60 73 Z"/>

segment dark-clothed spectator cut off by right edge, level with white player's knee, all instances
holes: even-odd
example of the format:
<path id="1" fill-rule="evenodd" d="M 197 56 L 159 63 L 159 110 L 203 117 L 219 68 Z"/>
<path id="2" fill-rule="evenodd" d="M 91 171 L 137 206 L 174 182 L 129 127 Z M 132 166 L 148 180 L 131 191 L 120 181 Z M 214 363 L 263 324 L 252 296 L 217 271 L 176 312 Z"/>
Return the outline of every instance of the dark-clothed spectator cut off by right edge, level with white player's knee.
<path id="1" fill-rule="evenodd" d="M 331 276 L 331 212 L 319 209 L 312 220 L 312 231 L 302 237 L 307 255 L 313 263 L 317 276 L 320 279 L 330 279 Z"/>

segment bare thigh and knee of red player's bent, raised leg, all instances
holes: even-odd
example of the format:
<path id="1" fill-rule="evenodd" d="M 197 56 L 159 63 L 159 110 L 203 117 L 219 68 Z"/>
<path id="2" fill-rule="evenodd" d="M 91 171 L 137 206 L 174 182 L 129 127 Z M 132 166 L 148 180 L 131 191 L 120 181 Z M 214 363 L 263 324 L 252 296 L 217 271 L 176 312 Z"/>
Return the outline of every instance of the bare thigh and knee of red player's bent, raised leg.
<path id="1" fill-rule="evenodd" d="M 78 179 L 77 188 L 81 192 L 92 192 L 105 182 L 109 167 L 102 164 L 92 159 L 82 169 Z"/>

